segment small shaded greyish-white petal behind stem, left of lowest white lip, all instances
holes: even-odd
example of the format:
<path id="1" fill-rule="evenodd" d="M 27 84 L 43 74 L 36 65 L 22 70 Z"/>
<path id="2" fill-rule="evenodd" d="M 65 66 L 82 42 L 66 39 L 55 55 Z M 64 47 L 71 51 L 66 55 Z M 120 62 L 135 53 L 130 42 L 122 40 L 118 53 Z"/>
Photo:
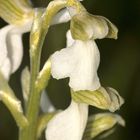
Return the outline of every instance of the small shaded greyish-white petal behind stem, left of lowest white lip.
<path id="1" fill-rule="evenodd" d="M 53 112 L 55 111 L 54 106 L 52 105 L 47 93 L 43 91 L 41 94 L 40 106 L 43 112 Z"/>

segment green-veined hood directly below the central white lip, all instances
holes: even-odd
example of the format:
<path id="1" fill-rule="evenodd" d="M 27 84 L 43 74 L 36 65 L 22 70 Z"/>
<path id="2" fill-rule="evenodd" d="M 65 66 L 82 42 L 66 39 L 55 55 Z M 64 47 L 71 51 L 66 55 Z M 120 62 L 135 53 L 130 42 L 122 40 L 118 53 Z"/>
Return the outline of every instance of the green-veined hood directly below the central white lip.
<path id="1" fill-rule="evenodd" d="M 112 88 L 111 88 L 112 89 Z M 78 103 L 86 103 L 100 109 L 114 112 L 124 103 L 123 98 L 114 90 L 100 87 L 95 91 L 72 91 L 72 98 Z"/>

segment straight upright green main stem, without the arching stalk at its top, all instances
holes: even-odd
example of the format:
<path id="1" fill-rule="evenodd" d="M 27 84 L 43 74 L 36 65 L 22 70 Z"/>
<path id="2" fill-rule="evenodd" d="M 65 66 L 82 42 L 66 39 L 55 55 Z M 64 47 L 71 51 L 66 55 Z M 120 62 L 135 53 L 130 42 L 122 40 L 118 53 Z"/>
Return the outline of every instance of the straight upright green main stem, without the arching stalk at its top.
<path id="1" fill-rule="evenodd" d="M 30 79 L 29 99 L 27 103 L 27 112 L 26 112 L 26 117 L 29 121 L 29 126 L 23 130 L 20 130 L 19 136 L 20 140 L 37 139 L 36 131 L 41 94 L 40 92 L 38 92 L 38 89 L 36 89 L 35 81 L 39 73 L 41 50 L 45 38 L 45 34 L 44 35 L 41 34 L 42 33 L 41 28 L 36 28 L 36 26 L 39 27 L 39 24 L 41 23 L 41 15 L 42 11 L 37 11 L 37 13 L 35 13 L 35 20 L 30 35 L 31 79 Z M 41 38 L 40 36 L 42 36 L 43 38 Z"/>

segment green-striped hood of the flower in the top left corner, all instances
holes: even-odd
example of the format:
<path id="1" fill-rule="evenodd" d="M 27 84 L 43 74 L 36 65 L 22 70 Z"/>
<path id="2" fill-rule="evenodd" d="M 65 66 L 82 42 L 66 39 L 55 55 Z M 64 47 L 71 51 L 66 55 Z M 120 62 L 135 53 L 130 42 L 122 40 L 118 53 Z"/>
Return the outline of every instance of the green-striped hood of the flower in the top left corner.
<path id="1" fill-rule="evenodd" d="M 25 0 L 0 0 L 0 17 L 10 24 L 23 24 L 33 16 Z"/>

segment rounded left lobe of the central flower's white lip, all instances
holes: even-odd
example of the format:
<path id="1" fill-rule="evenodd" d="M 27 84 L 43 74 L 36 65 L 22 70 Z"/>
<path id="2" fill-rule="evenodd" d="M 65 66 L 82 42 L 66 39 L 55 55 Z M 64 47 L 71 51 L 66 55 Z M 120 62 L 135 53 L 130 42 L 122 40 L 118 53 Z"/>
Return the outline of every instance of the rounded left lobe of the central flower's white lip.
<path id="1" fill-rule="evenodd" d="M 68 47 L 55 52 L 51 56 L 51 73 L 56 79 L 69 77 L 76 65 L 74 58 L 74 48 Z"/>

